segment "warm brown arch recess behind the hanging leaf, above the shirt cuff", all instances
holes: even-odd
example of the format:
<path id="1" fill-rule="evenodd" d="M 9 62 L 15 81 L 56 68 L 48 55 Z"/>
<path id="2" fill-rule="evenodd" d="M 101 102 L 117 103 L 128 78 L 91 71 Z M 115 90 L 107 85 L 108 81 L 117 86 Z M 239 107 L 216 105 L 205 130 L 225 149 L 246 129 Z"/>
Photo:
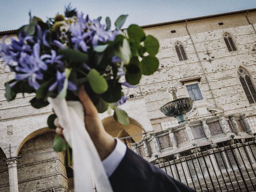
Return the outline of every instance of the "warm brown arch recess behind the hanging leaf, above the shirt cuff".
<path id="1" fill-rule="evenodd" d="M 138 136 L 133 136 L 132 139 L 134 142 L 138 142 L 142 139 L 142 133 L 145 132 L 145 129 L 143 128 L 142 124 L 140 124 L 137 120 L 134 118 L 129 117 L 130 120 L 130 125 L 124 126 L 114 120 L 113 116 L 108 116 L 104 119 L 102 119 L 103 126 L 105 130 L 112 135 L 113 137 L 117 137 L 118 135 L 124 135 L 120 133 L 122 130 L 124 130 L 129 136 L 133 135 L 138 135 Z"/>

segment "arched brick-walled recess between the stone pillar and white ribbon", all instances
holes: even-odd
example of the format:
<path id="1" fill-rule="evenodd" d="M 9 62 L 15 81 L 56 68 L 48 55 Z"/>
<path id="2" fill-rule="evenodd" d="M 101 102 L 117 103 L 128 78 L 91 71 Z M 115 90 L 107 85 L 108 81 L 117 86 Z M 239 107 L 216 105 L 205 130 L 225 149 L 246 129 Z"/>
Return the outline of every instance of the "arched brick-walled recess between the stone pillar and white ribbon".
<path id="1" fill-rule="evenodd" d="M 64 152 L 55 152 L 54 130 L 41 128 L 30 133 L 18 149 L 18 187 L 29 192 L 64 191 L 68 189 L 68 178 L 64 164 Z"/>

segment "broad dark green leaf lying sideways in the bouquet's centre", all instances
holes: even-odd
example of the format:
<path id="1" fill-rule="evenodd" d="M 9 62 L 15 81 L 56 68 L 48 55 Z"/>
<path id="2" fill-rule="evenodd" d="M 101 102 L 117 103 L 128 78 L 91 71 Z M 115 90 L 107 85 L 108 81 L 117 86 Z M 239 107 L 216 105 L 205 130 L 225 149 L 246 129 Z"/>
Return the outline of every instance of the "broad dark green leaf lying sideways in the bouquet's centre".
<path id="1" fill-rule="evenodd" d="M 58 54 L 68 60 L 71 67 L 77 66 L 77 64 L 83 64 L 88 60 L 87 54 L 73 49 L 60 49 L 58 50 Z"/>

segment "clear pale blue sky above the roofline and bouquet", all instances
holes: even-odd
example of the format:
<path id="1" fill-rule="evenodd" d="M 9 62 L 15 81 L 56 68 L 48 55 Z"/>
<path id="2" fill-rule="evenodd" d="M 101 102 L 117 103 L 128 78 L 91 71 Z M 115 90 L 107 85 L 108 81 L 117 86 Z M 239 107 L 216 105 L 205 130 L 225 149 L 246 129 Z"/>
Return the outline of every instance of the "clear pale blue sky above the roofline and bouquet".
<path id="1" fill-rule="evenodd" d="M 69 2 L 91 18 L 110 16 L 112 23 L 129 14 L 124 27 L 256 8 L 256 0 L 0 0 L 0 31 L 27 24 L 29 10 L 46 20 L 63 13 Z"/>

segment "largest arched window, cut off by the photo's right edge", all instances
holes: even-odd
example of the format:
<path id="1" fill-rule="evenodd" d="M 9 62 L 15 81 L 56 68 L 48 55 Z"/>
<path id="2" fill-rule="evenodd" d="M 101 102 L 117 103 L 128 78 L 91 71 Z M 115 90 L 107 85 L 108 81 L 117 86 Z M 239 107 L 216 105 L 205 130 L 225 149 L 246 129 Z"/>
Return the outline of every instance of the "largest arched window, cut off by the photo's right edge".
<path id="1" fill-rule="evenodd" d="M 242 67 L 238 69 L 238 77 L 244 88 L 244 92 L 249 103 L 256 103 L 256 91 L 255 86 L 250 78 L 249 73 Z"/>

